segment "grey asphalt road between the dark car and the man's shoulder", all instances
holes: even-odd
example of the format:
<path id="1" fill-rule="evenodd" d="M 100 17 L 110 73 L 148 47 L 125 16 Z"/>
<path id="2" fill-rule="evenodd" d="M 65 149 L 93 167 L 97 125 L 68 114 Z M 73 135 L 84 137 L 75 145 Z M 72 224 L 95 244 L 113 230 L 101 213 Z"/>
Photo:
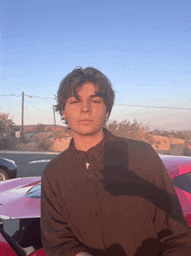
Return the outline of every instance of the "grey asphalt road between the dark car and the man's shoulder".
<path id="1" fill-rule="evenodd" d="M 31 164 L 30 162 L 39 161 L 39 160 L 48 160 L 48 159 L 55 158 L 56 156 L 57 154 L 0 152 L 0 157 L 8 158 L 16 162 L 17 178 L 42 176 L 43 169 L 48 164 L 48 162 L 43 162 L 43 163 L 37 162 L 37 163 L 31 163 Z"/>

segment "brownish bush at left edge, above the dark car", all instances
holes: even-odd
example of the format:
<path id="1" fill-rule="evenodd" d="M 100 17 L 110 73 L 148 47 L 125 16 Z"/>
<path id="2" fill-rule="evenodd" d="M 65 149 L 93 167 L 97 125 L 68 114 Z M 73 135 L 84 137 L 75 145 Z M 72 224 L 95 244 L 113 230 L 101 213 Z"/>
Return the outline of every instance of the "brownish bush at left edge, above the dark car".
<path id="1" fill-rule="evenodd" d="M 0 149 L 14 148 L 16 131 L 19 128 L 9 118 L 9 113 L 0 112 Z"/>

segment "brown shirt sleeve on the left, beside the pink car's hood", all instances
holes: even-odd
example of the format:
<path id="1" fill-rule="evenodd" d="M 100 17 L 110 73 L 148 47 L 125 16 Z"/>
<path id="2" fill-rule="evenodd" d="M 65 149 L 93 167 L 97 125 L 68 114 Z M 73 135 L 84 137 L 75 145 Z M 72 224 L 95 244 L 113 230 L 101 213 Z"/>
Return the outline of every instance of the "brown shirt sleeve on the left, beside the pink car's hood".
<path id="1" fill-rule="evenodd" d="M 64 218 L 55 175 L 45 171 L 46 168 L 41 192 L 41 236 L 45 253 L 47 256 L 76 256 L 86 252 L 86 246 L 76 239 Z"/>

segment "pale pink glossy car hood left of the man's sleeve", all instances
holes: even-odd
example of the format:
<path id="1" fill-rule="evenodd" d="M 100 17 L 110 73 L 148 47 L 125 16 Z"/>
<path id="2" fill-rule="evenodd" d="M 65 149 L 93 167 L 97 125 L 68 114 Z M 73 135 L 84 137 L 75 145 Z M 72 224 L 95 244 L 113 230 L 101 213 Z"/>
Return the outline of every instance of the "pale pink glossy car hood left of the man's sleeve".
<path id="1" fill-rule="evenodd" d="M 41 177 L 10 179 L 0 183 L 0 218 L 38 218 L 41 199 L 26 196 L 41 182 Z M 10 210 L 11 209 L 11 210 Z"/>

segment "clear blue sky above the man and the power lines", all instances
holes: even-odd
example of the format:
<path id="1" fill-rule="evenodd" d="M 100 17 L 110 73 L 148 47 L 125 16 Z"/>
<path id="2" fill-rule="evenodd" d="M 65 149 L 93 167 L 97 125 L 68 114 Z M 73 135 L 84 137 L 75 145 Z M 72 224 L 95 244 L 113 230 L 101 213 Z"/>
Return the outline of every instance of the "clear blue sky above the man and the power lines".
<path id="1" fill-rule="evenodd" d="M 24 91 L 24 125 L 53 124 L 60 81 L 76 66 L 93 66 L 116 91 L 110 120 L 190 129 L 189 110 L 119 104 L 191 109 L 191 2 L 67 2 L 1 0 L 0 95 Z M 21 109 L 21 96 L 0 96 L 0 111 L 16 125 Z"/>

